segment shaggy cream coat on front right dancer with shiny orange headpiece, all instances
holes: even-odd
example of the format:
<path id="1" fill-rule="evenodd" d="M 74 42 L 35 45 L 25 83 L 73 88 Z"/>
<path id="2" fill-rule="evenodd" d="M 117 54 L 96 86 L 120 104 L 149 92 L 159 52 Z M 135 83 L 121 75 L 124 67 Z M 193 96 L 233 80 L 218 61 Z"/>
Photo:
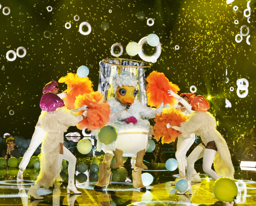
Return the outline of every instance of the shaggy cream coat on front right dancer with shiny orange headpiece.
<path id="1" fill-rule="evenodd" d="M 218 149 L 214 159 L 214 169 L 224 177 L 234 178 L 234 167 L 231 161 L 230 152 L 227 143 L 222 135 L 216 130 L 216 120 L 209 112 L 193 112 L 187 121 L 181 123 L 179 130 L 184 136 L 188 134 L 196 134 L 200 136 L 202 141 L 204 134 L 210 132 L 210 137 L 215 141 Z M 204 142 L 206 145 L 207 142 Z"/>

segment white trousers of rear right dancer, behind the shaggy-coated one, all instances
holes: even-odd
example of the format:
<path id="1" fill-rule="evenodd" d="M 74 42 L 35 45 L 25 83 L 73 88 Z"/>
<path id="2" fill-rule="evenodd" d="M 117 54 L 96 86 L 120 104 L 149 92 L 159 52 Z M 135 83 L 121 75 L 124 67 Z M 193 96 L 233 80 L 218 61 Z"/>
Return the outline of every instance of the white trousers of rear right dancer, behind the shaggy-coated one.
<path id="1" fill-rule="evenodd" d="M 175 157 L 178 162 L 179 166 L 179 173 L 180 177 L 185 177 L 186 176 L 186 169 L 187 169 L 187 160 L 186 160 L 186 154 L 189 148 L 193 145 L 195 141 L 195 134 L 191 134 L 190 138 L 187 139 L 178 139 L 177 142 L 177 151 L 175 153 Z M 193 174 L 196 174 L 196 170 L 193 168 Z"/>

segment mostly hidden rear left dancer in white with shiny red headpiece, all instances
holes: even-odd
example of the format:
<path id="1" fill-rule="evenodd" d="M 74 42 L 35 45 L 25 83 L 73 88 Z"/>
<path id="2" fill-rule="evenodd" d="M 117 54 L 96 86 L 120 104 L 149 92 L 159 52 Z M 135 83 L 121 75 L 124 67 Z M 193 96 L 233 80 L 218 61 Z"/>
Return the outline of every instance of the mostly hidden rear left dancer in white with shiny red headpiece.
<path id="1" fill-rule="evenodd" d="M 59 87 L 58 87 L 58 83 L 56 81 L 49 82 L 43 88 L 43 94 L 45 94 L 46 92 L 52 92 L 52 93 L 58 95 L 61 99 L 66 97 L 66 93 L 65 92 L 58 94 L 58 91 L 59 91 Z M 81 109 L 85 109 L 85 108 L 83 107 Z M 74 109 L 74 110 L 72 110 L 72 112 L 78 112 L 78 111 L 81 111 L 81 109 L 80 108 Z M 44 111 L 42 110 L 41 114 L 43 112 Z M 40 114 L 40 116 L 38 118 L 38 122 L 37 122 L 37 124 L 35 126 L 35 132 L 34 132 L 32 138 L 31 138 L 31 142 L 30 142 L 29 148 L 27 149 L 27 151 L 23 155 L 22 161 L 21 161 L 21 163 L 19 165 L 20 169 L 19 169 L 19 172 L 18 172 L 18 175 L 17 175 L 17 181 L 22 181 L 23 180 L 23 177 L 22 177 L 23 171 L 26 169 L 26 167 L 27 167 L 27 165 L 28 165 L 28 163 L 30 161 L 31 156 L 34 154 L 36 149 L 42 143 L 43 137 L 45 136 L 45 132 L 44 132 L 44 130 L 42 128 L 42 125 L 41 125 L 41 114 Z M 67 148 L 65 148 L 65 149 L 67 149 Z M 65 159 L 65 157 L 63 157 L 63 159 Z M 68 159 L 65 159 L 65 160 L 67 160 L 69 162 Z M 73 161 L 73 160 L 70 160 L 70 161 Z M 62 179 L 59 176 L 59 174 L 58 174 L 57 180 L 62 182 Z"/>

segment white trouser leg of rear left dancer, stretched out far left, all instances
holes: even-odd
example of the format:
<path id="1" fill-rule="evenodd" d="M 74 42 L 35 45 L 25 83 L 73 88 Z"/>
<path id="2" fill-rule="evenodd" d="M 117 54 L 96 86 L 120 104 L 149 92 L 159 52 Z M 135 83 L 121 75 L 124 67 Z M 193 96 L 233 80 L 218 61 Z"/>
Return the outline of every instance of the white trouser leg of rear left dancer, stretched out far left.
<path id="1" fill-rule="evenodd" d="M 19 168 L 24 171 L 29 163 L 31 156 L 34 154 L 38 146 L 42 143 L 43 137 L 45 135 L 44 130 L 41 127 L 35 127 L 35 132 L 31 138 L 29 148 L 23 155 L 22 161 L 19 165 Z"/>

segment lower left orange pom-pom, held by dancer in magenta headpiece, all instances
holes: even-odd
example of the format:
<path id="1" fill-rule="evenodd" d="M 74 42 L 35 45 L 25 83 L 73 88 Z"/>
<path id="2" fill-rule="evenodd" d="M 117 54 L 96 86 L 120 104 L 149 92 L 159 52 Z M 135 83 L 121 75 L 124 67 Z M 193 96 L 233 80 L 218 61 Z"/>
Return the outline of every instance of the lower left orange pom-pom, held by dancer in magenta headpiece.
<path id="1" fill-rule="evenodd" d="M 78 95 L 75 100 L 75 108 L 87 105 L 89 107 L 87 116 L 76 124 L 79 130 L 87 128 L 88 130 L 96 130 L 105 126 L 109 121 L 110 106 L 106 103 L 105 97 L 100 92 L 91 92 L 90 94 Z M 82 114 L 79 111 L 78 114 Z"/>

